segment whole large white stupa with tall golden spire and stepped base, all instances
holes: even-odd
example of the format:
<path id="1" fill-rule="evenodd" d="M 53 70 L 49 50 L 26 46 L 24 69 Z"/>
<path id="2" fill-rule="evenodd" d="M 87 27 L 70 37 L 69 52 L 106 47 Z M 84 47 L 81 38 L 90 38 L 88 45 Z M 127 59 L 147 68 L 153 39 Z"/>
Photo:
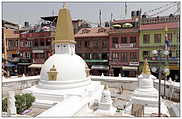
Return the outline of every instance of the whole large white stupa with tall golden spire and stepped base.
<path id="1" fill-rule="evenodd" d="M 75 39 L 70 11 L 64 6 L 59 11 L 55 54 L 43 64 L 40 82 L 24 90 L 36 97 L 34 106 L 52 107 L 39 117 L 73 116 L 83 106 L 100 100 L 104 86 L 91 81 L 85 61 L 75 54 Z"/>

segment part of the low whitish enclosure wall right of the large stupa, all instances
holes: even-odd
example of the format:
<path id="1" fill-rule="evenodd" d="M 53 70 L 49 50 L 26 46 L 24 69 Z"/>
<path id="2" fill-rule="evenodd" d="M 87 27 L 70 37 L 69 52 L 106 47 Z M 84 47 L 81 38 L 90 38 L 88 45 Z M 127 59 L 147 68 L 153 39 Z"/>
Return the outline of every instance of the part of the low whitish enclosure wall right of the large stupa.
<path id="1" fill-rule="evenodd" d="M 112 77 L 112 76 L 90 76 L 93 81 L 108 82 L 109 87 L 121 88 L 125 90 L 132 90 L 138 88 L 138 78 L 131 77 Z M 154 88 L 158 89 L 159 82 L 157 79 L 153 80 Z M 180 83 L 166 81 L 166 94 L 168 99 L 179 102 L 180 101 Z M 161 80 L 161 95 L 164 95 L 164 80 Z"/>

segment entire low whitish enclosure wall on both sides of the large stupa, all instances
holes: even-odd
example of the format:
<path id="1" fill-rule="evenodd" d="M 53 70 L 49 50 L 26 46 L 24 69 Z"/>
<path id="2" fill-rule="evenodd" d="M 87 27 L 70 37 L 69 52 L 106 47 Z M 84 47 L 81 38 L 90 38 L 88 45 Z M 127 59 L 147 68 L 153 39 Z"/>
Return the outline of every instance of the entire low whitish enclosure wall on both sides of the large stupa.
<path id="1" fill-rule="evenodd" d="M 113 76 L 90 76 L 93 81 L 109 82 L 109 87 L 121 88 L 134 91 L 138 88 L 138 78 L 131 77 L 113 77 Z M 2 88 L 3 93 L 7 93 L 8 90 L 22 90 L 25 88 L 37 85 L 40 81 L 40 76 L 28 76 L 28 77 L 14 77 L 3 78 Z M 158 80 L 153 80 L 154 87 L 158 89 Z M 166 81 L 166 97 L 179 102 L 180 100 L 180 83 Z M 164 80 L 161 80 L 161 95 L 164 95 Z"/>

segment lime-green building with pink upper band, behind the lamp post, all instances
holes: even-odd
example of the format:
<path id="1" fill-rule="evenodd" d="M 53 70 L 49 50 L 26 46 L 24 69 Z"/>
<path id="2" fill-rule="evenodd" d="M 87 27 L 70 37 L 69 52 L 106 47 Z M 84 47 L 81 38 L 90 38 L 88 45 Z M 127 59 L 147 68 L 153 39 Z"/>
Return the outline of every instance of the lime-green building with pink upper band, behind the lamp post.
<path id="1" fill-rule="evenodd" d="M 165 32 L 170 43 L 170 54 L 167 58 L 164 56 L 161 59 L 154 58 L 152 50 L 165 50 Z M 158 67 L 168 62 L 169 77 L 179 81 L 179 44 L 179 16 L 144 18 L 140 27 L 140 63 L 143 63 L 145 58 L 148 58 L 151 67 Z"/>

